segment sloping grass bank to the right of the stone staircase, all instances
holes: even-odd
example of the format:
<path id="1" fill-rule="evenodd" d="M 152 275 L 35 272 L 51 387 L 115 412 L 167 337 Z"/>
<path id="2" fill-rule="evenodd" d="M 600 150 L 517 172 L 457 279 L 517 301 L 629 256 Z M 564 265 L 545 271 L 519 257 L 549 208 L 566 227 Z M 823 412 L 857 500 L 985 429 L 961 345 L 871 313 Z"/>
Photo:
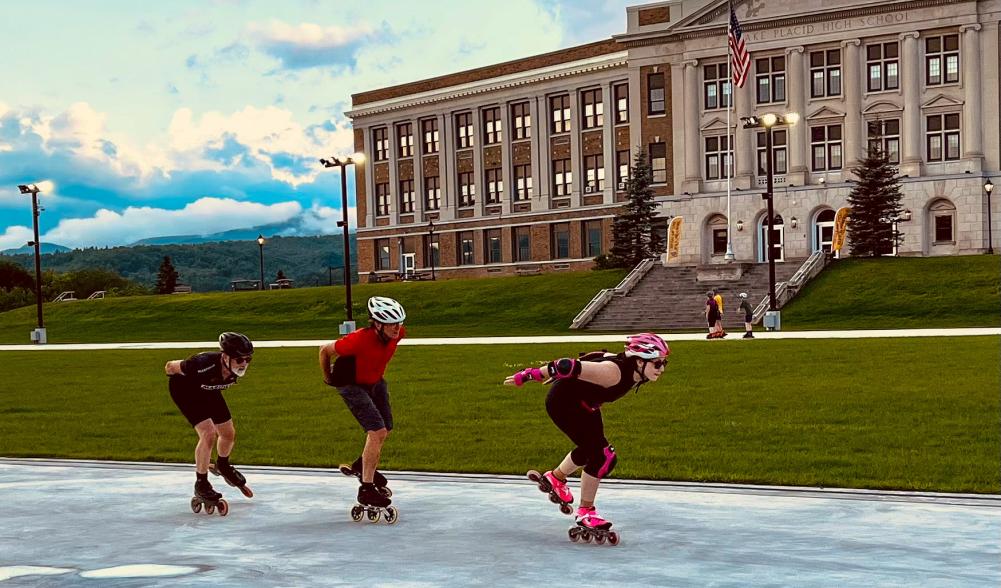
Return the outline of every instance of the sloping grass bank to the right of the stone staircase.
<path id="1" fill-rule="evenodd" d="M 782 310 L 786 330 L 1001 327 L 1001 256 L 842 259 Z"/>

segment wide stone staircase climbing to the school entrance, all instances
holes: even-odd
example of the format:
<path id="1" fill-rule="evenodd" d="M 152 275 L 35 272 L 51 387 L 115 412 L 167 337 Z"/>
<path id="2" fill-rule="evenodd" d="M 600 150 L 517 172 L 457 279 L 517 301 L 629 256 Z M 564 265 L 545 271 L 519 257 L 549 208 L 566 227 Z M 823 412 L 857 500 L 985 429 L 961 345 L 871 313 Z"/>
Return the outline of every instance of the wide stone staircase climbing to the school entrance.
<path id="1" fill-rule="evenodd" d="M 775 281 L 786 281 L 796 273 L 803 259 L 775 264 Z M 768 297 L 768 263 L 740 263 L 741 275 L 734 280 L 698 279 L 707 267 L 655 263 L 632 290 L 613 297 L 584 329 L 589 331 L 652 331 L 663 333 L 705 329 L 706 291 L 715 287 L 723 295 L 723 325 L 727 331 L 743 330 L 744 317 L 738 313 L 738 295 L 748 292 L 755 308 Z"/>

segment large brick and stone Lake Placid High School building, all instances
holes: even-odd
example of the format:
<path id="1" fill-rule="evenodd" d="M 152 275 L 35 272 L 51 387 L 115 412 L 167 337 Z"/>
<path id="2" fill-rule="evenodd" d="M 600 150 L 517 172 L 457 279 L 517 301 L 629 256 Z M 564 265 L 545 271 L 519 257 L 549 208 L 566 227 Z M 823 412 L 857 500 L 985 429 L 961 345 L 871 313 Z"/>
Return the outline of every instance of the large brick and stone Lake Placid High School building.
<path id="1" fill-rule="evenodd" d="M 830 248 L 833 213 L 847 206 L 851 168 L 877 127 L 902 176 L 906 211 L 895 224 L 903 235 L 897 254 L 974 253 L 996 240 L 1001 206 L 990 211 L 989 238 L 983 185 L 1001 158 L 1001 131 L 996 116 L 987 115 L 1001 110 L 1001 0 L 736 0 L 734 6 L 752 65 L 747 83 L 735 89 L 729 120 L 722 100 L 729 79 L 725 0 L 630 7 L 627 31 L 611 40 L 355 94 L 349 113 L 355 146 L 369 161 L 356 170 L 360 273 L 396 273 L 406 254 L 415 270 L 425 271 L 430 219 L 440 277 L 589 266 L 591 253 L 611 246 L 611 220 L 624 199 L 620 154 L 632 157 L 639 149 L 659 154 L 654 188 L 665 226 L 684 217 L 678 262 L 726 262 L 721 242 L 728 235 L 737 261 L 762 261 L 766 202 L 758 141 L 764 135 L 739 119 L 768 112 L 799 115 L 797 124 L 773 131 L 782 259 Z M 626 120 L 617 108 L 623 90 Z M 564 118 L 564 107 L 569 131 L 553 122 L 554 110 Z M 494 108 L 500 137 L 489 134 L 496 130 L 487 116 Z M 516 115 L 531 119 L 520 136 L 514 136 Z M 438 133 L 433 153 L 425 152 L 420 130 L 429 119 Z M 397 149 L 400 123 L 413 128 L 408 157 Z M 376 161 L 373 132 L 382 128 L 387 156 Z M 468 136 L 471 145 L 458 144 Z M 484 144 L 488 138 L 496 140 Z M 597 155 L 600 188 L 585 185 Z M 721 164 L 727 156 L 734 162 L 729 197 Z M 413 165 L 418 158 L 423 166 Z M 566 159 L 573 179 L 569 193 L 557 193 Z M 410 171 L 417 167 L 422 173 Z M 500 170 L 490 182 L 503 185 L 495 201 L 487 201 L 493 197 L 487 168 Z M 474 198 L 459 206 L 463 172 L 471 173 Z M 407 173 L 415 210 L 401 214 L 397 185 Z M 532 187 L 520 191 L 525 173 L 521 182 L 531 178 Z M 428 178 L 437 178 L 438 201 L 425 197 Z M 376 181 L 390 186 L 387 214 L 376 214 Z M 593 232 L 589 247 L 589 227 L 602 230 L 597 248 Z M 377 243 L 388 243 L 387 266 L 380 265 Z"/>

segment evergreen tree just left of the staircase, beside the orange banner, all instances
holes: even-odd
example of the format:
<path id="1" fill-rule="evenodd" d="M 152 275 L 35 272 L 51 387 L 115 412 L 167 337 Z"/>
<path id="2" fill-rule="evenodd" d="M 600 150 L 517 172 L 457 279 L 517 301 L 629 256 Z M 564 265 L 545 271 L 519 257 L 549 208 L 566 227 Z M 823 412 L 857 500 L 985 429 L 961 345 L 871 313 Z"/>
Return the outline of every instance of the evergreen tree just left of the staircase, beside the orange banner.
<path id="1" fill-rule="evenodd" d="M 654 201 L 653 170 L 647 153 L 640 149 L 626 180 L 629 199 L 612 222 L 612 259 L 620 267 L 632 267 L 664 249 L 664 238 L 656 229 L 657 203 Z"/>

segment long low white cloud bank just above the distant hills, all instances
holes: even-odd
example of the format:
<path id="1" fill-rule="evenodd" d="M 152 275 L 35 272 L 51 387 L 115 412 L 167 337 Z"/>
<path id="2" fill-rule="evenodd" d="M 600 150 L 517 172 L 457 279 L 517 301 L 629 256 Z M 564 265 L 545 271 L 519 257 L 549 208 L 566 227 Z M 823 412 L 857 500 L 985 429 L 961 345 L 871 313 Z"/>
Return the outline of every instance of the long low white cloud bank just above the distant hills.
<path id="1" fill-rule="evenodd" d="M 210 234 L 273 222 L 302 211 L 298 202 L 259 204 L 231 198 L 203 197 L 179 210 L 129 206 L 121 212 L 102 208 L 89 218 L 66 218 L 42 241 L 69 247 L 121 245 L 151 236 Z"/>

